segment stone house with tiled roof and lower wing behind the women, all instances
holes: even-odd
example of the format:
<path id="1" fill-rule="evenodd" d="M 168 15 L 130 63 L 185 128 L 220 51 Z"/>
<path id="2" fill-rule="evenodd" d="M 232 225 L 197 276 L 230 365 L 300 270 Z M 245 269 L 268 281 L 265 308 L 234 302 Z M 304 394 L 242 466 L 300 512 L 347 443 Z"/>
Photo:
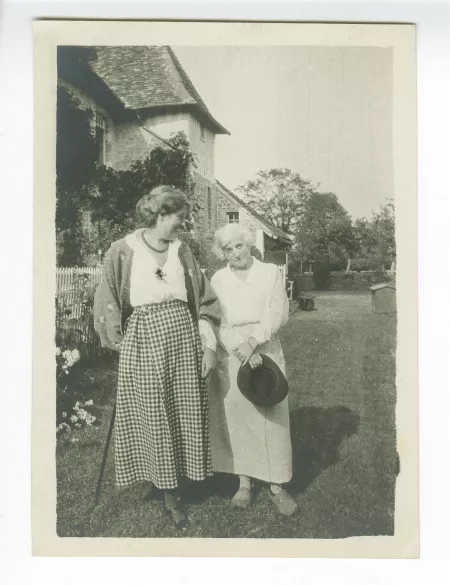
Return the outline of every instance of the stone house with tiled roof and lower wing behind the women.
<path id="1" fill-rule="evenodd" d="M 196 156 L 199 211 L 194 231 L 211 242 L 228 222 L 246 224 L 266 261 L 285 265 L 291 240 L 215 177 L 216 135 L 229 134 L 209 112 L 168 46 L 59 47 L 58 83 L 94 112 L 99 162 L 126 169 L 183 131 Z"/>

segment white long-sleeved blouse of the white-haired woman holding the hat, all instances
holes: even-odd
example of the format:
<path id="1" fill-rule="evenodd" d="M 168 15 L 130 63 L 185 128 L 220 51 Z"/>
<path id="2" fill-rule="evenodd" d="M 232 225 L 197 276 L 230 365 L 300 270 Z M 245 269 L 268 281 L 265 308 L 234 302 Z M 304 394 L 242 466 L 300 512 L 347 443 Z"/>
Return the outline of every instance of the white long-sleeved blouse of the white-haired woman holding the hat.
<path id="1" fill-rule="evenodd" d="M 287 323 L 289 301 L 275 264 L 253 258 L 244 282 L 227 266 L 216 272 L 211 285 L 219 297 L 223 315 L 218 338 L 229 352 L 249 337 L 262 345 Z M 241 328 L 242 325 L 250 327 Z"/>

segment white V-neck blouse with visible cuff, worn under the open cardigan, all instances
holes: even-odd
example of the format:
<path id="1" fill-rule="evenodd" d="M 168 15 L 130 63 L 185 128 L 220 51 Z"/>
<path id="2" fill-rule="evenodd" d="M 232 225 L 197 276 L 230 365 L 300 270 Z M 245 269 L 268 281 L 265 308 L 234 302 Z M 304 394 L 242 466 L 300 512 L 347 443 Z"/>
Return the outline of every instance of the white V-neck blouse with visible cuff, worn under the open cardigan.
<path id="1" fill-rule="evenodd" d="M 133 250 L 130 274 L 131 306 L 151 305 L 175 299 L 187 302 L 184 270 L 178 256 L 180 240 L 169 243 L 167 261 L 164 266 L 159 267 L 142 241 L 143 231 L 143 229 L 138 229 L 125 238 Z M 216 336 L 210 323 L 205 319 L 200 319 L 199 330 L 204 346 L 215 351 Z"/>

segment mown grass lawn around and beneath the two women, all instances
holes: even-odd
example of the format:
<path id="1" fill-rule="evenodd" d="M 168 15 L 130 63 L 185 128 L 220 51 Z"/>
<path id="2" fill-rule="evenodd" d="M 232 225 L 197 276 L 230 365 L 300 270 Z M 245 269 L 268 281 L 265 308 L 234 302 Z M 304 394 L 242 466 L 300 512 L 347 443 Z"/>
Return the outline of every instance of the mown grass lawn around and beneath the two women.
<path id="1" fill-rule="evenodd" d="M 313 312 L 294 311 L 281 333 L 289 382 L 294 478 L 299 505 L 280 516 L 264 486 L 253 506 L 236 510 L 233 477 L 184 486 L 191 528 L 180 535 L 147 486 L 118 490 L 113 445 L 101 500 L 94 493 L 115 396 L 116 374 L 87 372 L 100 405 L 98 429 L 58 440 L 59 536 L 344 538 L 391 535 L 397 473 L 395 336 L 392 315 L 375 315 L 366 294 L 324 293 Z M 72 435 L 72 437 L 70 436 Z M 76 437 L 77 442 L 71 442 Z"/>

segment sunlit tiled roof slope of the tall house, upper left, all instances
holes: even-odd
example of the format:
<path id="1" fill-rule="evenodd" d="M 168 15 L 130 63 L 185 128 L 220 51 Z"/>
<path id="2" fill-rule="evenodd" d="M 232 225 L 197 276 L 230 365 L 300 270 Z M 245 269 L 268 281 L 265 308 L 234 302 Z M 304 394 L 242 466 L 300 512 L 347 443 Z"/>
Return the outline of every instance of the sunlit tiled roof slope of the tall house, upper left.
<path id="1" fill-rule="evenodd" d="M 203 115 L 216 134 L 229 134 L 213 118 L 170 47 L 105 46 L 95 51 L 90 67 L 126 109 L 187 106 Z"/>

